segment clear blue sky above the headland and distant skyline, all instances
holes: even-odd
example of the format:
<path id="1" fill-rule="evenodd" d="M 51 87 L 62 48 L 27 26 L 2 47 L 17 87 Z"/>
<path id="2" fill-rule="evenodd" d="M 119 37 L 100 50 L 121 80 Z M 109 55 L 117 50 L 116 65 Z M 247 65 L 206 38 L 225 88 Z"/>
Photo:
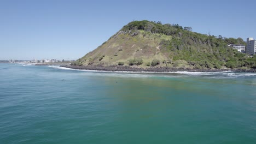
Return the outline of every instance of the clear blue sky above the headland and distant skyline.
<path id="1" fill-rule="evenodd" d="M 256 38 L 256 1 L 0 1 L 0 59 L 77 59 L 133 20 Z"/>

